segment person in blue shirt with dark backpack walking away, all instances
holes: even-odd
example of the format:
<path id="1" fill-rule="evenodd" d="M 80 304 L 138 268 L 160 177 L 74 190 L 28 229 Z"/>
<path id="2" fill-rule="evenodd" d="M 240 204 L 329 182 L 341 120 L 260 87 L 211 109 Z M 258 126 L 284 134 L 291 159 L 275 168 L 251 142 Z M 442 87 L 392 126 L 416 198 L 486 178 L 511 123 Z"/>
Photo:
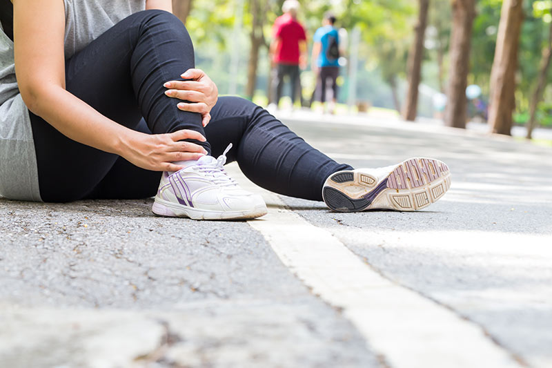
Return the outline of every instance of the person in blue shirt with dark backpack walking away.
<path id="1" fill-rule="evenodd" d="M 317 74 L 317 88 L 319 101 L 326 102 L 326 85 L 328 79 L 333 90 L 331 102 L 328 106 L 330 113 L 334 112 L 337 101 L 337 76 L 339 75 L 339 32 L 334 27 L 335 16 L 324 14 L 322 27 L 314 35 L 312 68 Z"/>

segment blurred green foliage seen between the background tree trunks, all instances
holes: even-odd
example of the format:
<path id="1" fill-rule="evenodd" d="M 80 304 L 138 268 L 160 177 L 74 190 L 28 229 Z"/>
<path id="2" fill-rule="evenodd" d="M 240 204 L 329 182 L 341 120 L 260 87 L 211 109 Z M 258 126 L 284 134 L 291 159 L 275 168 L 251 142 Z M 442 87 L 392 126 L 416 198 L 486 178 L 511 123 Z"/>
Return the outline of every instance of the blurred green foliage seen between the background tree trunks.
<path id="1" fill-rule="evenodd" d="M 219 84 L 230 79 L 228 63 L 230 53 L 236 44 L 240 51 L 239 80 L 245 83 L 245 66 L 248 58 L 248 34 L 253 27 L 250 12 L 251 1 L 258 1 L 268 9 L 264 14 L 262 27 L 264 38 L 270 41 L 275 19 L 282 14 L 284 0 L 206 0 L 194 1 L 194 8 L 188 17 L 188 30 L 197 49 L 198 64 L 215 75 Z M 338 25 L 351 31 L 358 27 L 362 32 L 359 45 L 359 61 L 362 70 L 359 78 L 366 83 L 359 84 L 359 95 L 371 99 L 374 104 L 391 107 L 389 89 L 384 84 L 404 85 L 406 59 L 413 41 L 413 27 L 417 17 L 417 1 L 414 0 L 300 0 L 302 11 L 299 20 L 312 37 L 321 25 L 324 12 L 331 10 L 338 19 Z M 239 40 L 233 39 L 233 27 L 237 20 L 237 4 L 242 3 L 243 27 Z M 500 21 L 502 0 L 477 0 L 477 16 L 473 22 L 471 41 L 471 72 L 469 84 L 482 87 L 484 97 L 489 96 L 489 81 L 495 52 L 496 37 Z M 516 118 L 522 122 L 529 106 L 529 97 L 538 73 L 542 49 L 548 42 L 549 26 L 552 22 L 552 0 L 526 0 L 524 2 L 524 23 L 520 38 L 519 72 L 517 75 Z M 431 0 L 428 29 L 426 31 L 426 52 L 422 83 L 439 90 L 446 80 L 439 80 L 439 68 L 446 70 L 451 35 L 451 0 Z M 236 43 L 238 42 L 238 43 Z M 309 41 L 309 45 L 311 42 Z M 444 56 L 444 57 L 442 57 Z M 440 64 L 440 60 L 442 63 Z M 261 50 L 259 61 L 259 86 L 266 84 L 268 61 L 266 48 Z M 306 75 L 308 76 L 308 74 Z M 347 84 L 347 81 L 345 82 Z M 343 88 L 346 90 L 346 88 Z M 224 92 L 224 87 L 221 91 Z M 380 95 L 378 95 L 378 93 Z M 400 97 L 402 97 L 400 93 Z M 552 112 L 552 93 L 545 94 L 545 103 L 540 106 L 539 119 L 549 124 Z M 391 106 L 390 106 L 391 105 Z"/>

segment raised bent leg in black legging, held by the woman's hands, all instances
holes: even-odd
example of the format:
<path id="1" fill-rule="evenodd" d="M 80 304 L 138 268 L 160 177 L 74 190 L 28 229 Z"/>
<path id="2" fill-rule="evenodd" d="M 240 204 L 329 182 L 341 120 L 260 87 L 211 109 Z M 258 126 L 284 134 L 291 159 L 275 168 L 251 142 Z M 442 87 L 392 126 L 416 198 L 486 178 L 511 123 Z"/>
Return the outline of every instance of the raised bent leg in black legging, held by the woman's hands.
<path id="1" fill-rule="evenodd" d="M 153 133 L 187 128 L 204 134 L 199 114 L 179 110 L 178 101 L 164 95 L 164 82 L 180 79 L 182 72 L 193 67 L 193 45 L 184 25 L 168 12 L 146 10 L 117 23 L 68 59 L 66 88 L 128 128 L 137 129 L 144 116 Z M 97 193 L 106 175 L 119 167 L 116 162 L 124 161 L 72 141 L 36 115 L 31 114 L 31 123 L 40 192 L 46 202 L 68 202 Z M 204 147 L 210 150 L 208 144 Z M 125 188 L 144 182 L 124 180 L 118 185 Z"/>

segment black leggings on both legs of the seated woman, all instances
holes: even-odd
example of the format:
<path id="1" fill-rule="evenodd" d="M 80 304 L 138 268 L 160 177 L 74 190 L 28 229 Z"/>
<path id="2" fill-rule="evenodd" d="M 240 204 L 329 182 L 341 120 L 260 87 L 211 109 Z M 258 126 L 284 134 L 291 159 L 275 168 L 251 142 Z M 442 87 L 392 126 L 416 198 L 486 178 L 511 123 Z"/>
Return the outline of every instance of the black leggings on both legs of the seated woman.
<path id="1" fill-rule="evenodd" d="M 144 133 L 196 130 L 213 156 L 228 143 L 228 162 L 277 193 L 322 200 L 322 184 L 350 169 L 315 150 L 284 124 L 245 99 L 220 97 L 206 128 L 201 116 L 164 95 L 166 81 L 194 67 L 193 45 L 177 17 L 161 10 L 132 14 L 66 61 L 66 88 L 99 113 Z M 142 119 L 144 117 L 144 119 Z M 78 117 L 75 117 L 78 119 Z M 31 114 L 40 194 L 46 202 L 131 199 L 155 195 L 161 173 L 65 137 Z"/>

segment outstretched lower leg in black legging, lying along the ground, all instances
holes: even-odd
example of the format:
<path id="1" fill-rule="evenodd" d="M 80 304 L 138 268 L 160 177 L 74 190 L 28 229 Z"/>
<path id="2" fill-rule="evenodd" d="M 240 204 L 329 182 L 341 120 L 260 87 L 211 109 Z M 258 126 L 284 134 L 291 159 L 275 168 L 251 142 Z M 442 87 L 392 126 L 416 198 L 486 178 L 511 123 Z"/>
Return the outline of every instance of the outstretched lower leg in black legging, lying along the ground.
<path id="1" fill-rule="evenodd" d="M 205 132 L 213 155 L 231 142 L 228 162 L 237 161 L 252 182 L 275 193 L 320 201 L 326 178 L 352 169 L 317 151 L 246 99 L 220 97 L 211 115 Z"/>

